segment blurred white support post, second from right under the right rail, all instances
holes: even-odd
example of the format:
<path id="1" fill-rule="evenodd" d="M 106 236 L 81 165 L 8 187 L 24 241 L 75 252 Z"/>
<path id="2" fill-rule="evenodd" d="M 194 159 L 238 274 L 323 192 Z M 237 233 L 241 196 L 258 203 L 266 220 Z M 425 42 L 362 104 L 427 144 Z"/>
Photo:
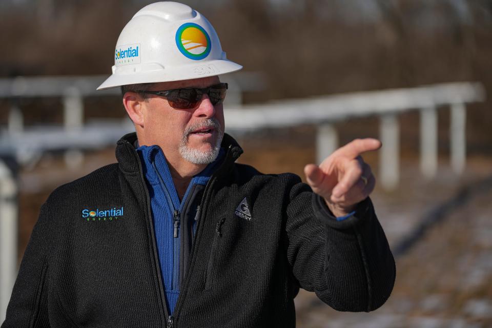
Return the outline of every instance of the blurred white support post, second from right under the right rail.
<path id="1" fill-rule="evenodd" d="M 424 177 L 436 177 L 438 167 L 437 110 L 435 107 L 420 110 L 420 170 Z"/>

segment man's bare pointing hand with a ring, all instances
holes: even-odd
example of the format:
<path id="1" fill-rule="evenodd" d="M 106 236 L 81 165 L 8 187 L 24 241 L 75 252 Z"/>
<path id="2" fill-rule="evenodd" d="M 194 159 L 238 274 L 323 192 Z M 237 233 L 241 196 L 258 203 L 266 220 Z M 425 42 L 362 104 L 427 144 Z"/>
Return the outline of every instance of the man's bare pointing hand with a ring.
<path id="1" fill-rule="evenodd" d="M 355 139 L 326 157 L 319 167 L 304 167 L 308 184 L 324 198 L 335 216 L 352 212 L 374 190 L 376 179 L 360 155 L 379 148 L 378 139 Z"/>

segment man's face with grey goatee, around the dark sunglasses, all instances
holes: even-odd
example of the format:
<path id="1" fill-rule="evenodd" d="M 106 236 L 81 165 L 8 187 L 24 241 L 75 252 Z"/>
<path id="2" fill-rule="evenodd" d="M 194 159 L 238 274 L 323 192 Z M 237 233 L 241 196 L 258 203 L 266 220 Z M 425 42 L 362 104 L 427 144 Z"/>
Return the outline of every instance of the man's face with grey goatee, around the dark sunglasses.
<path id="1" fill-rule="evenodd" d="M 206 88 L 220 83 L 217 76 L 155 84 L 150 90 Z M 178 156 L 195 164 L 212 162 L 218 154 L 224 131 L 222 104 L 212 105 L 204 94 L 193 109 L 175 109 L 166 97 L 148 95 L 143 103 L 144 140 L 141 145 L 158 145 L 168 160 Z"/>

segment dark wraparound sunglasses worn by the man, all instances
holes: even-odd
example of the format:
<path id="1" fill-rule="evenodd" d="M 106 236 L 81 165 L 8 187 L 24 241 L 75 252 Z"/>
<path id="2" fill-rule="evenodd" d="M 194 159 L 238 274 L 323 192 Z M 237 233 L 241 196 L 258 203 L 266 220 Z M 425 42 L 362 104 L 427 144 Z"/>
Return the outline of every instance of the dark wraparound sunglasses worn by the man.
<path id="1" fill-rule="evenodd" d="M 219 83 L 207 88 L 181 88 L 162 91 L 135 91 L 139 93 L 155 94 L 166 97 L 169 105 L 176 109 L 192 109 L 195 108 L 201 101 L 204 94 L 209 96 L 212 105 L 217 105 L 226 98 L 227 83 Z"/>

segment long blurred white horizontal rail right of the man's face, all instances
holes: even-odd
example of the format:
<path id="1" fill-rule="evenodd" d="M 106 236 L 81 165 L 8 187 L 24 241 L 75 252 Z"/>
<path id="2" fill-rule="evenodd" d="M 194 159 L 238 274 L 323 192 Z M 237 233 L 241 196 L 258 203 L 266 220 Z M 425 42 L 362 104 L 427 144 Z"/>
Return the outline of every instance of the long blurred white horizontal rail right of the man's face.
<path id="1" fill-rule="evenodd" d="M 285 99 L 261 105 L 230 105 L 224 115 L 228 129 L 282 128 L 482 101 L 484 94 L 481 90 L 483 88 L 473 84 L 453 84 L 356 92 L 310 99 Z"/>

